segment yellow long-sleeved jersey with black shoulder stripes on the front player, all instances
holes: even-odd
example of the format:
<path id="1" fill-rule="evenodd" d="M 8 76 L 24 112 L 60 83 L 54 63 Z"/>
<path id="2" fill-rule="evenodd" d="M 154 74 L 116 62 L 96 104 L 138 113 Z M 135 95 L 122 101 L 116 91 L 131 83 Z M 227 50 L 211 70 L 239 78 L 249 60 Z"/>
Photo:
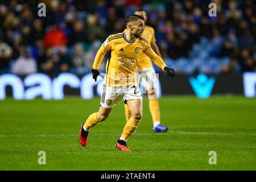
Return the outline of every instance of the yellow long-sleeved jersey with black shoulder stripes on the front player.
<path id="1" fill-rule="evenodd" d="M 111 57 L 106 63 L 106 86 L 127 86 L 136 84 L 135 67 L 141 53 L 145 53 L 158 67 L 164 69 L 166 64 L 156 55 L 150 44 L 143 38 L 133 42 L 127 40 L 125 32 L 110 35 L 101 45 L 94 59 L 93 69 L 100 67 L 104 55 L 111 51 Z"/>

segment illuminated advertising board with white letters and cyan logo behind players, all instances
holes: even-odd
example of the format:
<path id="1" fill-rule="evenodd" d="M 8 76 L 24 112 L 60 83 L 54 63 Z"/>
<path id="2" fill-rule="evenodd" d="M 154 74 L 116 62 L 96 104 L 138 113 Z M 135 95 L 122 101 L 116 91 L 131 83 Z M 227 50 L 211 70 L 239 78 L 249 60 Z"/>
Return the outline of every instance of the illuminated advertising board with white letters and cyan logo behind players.
<path id="1" fill-rule="evenodd" d="M 15 100 L 32 100 L 42 97 L 45 100 L 61 100 L 65 96 L 81 96 L 90 99 L 100 96 L 103 78 L 97 82 L 91 73 L 77 76 L 73 73 L 46 75 L 34 73 L 26 77 L 13 74 L 0 75 L 0 100 L 13 97 Z M 196 76 L 177 75 L 170 78 L 159 75 L 160 93 L 162 95 L 195 95 L 208 98 L 217 94 L 238 94 L 246 97 L 256 96 L 256 73 L 243 75 Z"/>

